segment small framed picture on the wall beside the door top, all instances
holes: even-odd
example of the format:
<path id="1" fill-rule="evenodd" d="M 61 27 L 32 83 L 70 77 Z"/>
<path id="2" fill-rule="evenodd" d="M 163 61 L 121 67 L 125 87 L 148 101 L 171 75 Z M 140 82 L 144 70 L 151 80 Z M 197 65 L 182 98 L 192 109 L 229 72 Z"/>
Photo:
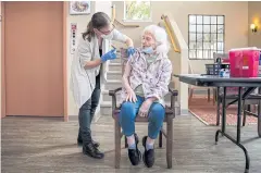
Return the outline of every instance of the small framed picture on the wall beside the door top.
<path id="1" fill-rule="evenodd" d="M 90 14 L 90 1 L 71 1 L 70 14 L 71 15 Z"/>

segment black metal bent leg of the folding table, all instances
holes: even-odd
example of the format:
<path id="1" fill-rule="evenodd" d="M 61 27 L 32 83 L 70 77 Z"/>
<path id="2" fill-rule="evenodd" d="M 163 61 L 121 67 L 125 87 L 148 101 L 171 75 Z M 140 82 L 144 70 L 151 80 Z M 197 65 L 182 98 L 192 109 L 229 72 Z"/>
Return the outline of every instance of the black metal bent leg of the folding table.
<path id="1" fill-rule="evenodd" d="M 249 172 L 249 165 L 250 165 L 250 159 L 248 156 L 248 151 L 247 149 L 240 144 L 240 125 L 241 125 L 241 100 L 243 100 L 243 94 L 241 94 L 241 87 L 239 87 L 238 89 L 238 109 L 237 109 L 237 139 L 235 140 L 233 137 L 231 137 L 228 134 L 225 133 L 225 96 L 226 96 L 226 87 L 224 87 L 224 94 L 223 94 L 223 106 L 222 106 L 222 131 L 217 129 L 215 133 L 215 144 L 217 144 L 219 141 L 219 134 L 221 133 L 222 135 L 224 135 L 225 137 L 227 137 L 229 140 L 232 140 L 235 145 L 237 145 L 238 147 L 240 147 L 245 153 L 245 158 L 246 158 L 246 165 L 245 165 L 245 173 Z"/>

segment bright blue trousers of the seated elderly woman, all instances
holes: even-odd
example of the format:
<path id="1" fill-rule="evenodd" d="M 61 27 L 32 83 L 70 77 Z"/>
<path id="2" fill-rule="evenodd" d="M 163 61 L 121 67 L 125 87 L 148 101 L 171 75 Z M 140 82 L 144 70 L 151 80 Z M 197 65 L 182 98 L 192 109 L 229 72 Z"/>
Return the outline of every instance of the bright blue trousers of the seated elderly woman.
<path id="1" fill-rule="evenodd" d="M 135 132 L 135 118 L 145 98 L 137 96 L 136 102 L 126 101 L 122 103 L 120 124 L 125 136 L 132 136 Z M 148 136 L 156 139 L 160 133 L 165 116 L 165 109 L 162 104 L 153 102 L 148 113 Z"/>

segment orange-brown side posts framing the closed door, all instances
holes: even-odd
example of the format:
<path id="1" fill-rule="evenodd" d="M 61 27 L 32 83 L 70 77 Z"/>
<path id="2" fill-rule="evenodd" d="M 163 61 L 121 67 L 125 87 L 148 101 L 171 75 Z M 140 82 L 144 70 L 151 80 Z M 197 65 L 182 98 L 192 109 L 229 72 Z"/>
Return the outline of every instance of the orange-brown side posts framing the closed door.
<path id="1" fill-rule="evenodd" d="M 2 20 L 2 25 L 1 25 L 1 118 L 7 116 L 7 90 L 5 90 L 5 54 L 4 54 L 4 44 L 5 44 L 5 36 L 4 36 L 4 4 L 5 2 L 0 2 L 1 3 L 1 20 Z M 63 48 L 62 48 L 62 57 L 63 57 L 63 121 L 67 122 L 69 121 L 69 114 L 67 114 L 67 38 L 66 38 L 66 30 L 67 30 L 67 10 L 69 5 L 67 2 L 63 2 Z"/>

